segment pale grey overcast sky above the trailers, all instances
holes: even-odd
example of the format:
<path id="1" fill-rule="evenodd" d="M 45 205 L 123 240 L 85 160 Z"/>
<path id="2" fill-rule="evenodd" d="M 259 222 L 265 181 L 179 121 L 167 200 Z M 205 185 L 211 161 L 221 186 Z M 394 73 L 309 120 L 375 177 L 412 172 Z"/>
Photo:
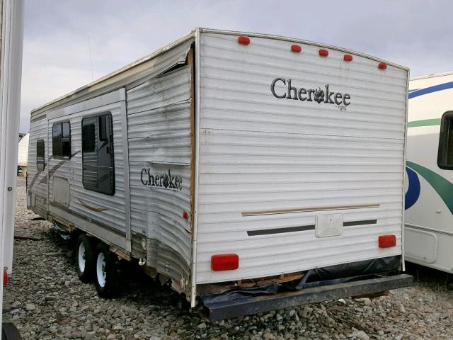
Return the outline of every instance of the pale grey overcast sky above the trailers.
<path id="1" fill-rule="evenodd" d="M 26 0 L 21 132 L 30 111 L 196 26 L 324 42 L 411 68 L 453 70 L 453 1 Z"/>

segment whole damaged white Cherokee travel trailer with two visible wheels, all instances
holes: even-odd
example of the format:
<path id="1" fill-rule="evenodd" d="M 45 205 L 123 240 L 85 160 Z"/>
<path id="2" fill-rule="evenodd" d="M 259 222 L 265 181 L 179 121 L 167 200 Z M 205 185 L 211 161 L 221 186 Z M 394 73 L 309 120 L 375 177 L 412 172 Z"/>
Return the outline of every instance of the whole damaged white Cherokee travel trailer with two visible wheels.
<path id="1" fill-rule="evenodd" d="M 409 285 L 375 275 L 403 269 L 407 89 L 368 55 L 197 28 L 31 113 L 28 207 L 78 233 L 101 296 L 138 261 L 211 319 Z"/>

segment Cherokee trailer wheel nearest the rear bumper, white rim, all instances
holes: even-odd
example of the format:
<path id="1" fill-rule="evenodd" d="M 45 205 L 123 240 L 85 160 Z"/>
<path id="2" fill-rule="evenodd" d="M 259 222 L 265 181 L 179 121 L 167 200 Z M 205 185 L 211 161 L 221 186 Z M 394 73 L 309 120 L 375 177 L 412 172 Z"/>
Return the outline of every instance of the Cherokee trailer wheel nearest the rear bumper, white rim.
<path id="1" fill-rule="evenodd" d="M 101 297 L 115 297 L 118 291 L 119 274 L 115 255 L 106 244 L 96 247 L 96 290 Z"/>

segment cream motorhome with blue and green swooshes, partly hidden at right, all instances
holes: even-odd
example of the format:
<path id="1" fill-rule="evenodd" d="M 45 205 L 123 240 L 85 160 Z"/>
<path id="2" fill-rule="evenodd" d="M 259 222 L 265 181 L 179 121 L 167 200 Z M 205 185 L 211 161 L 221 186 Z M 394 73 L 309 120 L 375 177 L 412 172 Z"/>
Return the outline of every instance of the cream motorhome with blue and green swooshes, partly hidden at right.
<path id="1" fill-rule="evenodd" d="M 453 72 L 409 84 L 406 260 L 453 273 Z"/>

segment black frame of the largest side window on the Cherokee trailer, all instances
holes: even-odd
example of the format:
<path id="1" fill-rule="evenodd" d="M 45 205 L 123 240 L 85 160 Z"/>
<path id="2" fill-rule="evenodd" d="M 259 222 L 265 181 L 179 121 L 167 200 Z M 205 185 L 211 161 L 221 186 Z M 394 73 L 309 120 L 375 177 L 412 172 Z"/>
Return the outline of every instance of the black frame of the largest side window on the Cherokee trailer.
<path id="1" fill-rule="evenodd" d="M 108 140 L 108 147 L 110 149 L 110 159 L 111 159 L 111 166 L 108 166 L 108 168 L 111 167 L 111 171 L 112 171 L 112 180 L 111 180 L 111 186 L 110 186 L 110 192 L 106 193 L 104 191 L 99 191 L 99 190 L 96 190 L 94 188 L 91 188 L 91 187 L 86 187 L 85 186 L 85 171 L 84 171 L 84 166 L 86 166 L 86 164 L 84 164 L 84 136 L 83 136 L 83 131 L 84 131 L 84 120 L 86 119 L 90 119 L 90 118 L 96 118 L 96 125 L 95 125 L 95 145 L 94 145 L 94 149 L 92 152 L 96 152 L 96 159 L 98 159 L 98 150 L 96 150 L 96 126 L 98 128 L 98 137 L 99 137 L 99 140 L 101 141 L 101 136 L 99 135 L 99 125 L 100 124 L 100 121 L 101 121 L 101 117 L 103 115 L 108 115 L 109 116 L 109 119 L 108 120 L 105 120 L 106 123 L 110 123 L 110 135 L 108 135 L 106 137 L 105 140 Z M 89 125 L 89 124 L 87 124 Z M 103 111 L 101 113 L 96 113 L 96 114 L 92 114 L 92 115 L 84 115 L 81 119 L 81 154 L 82 154 L 82 186 L 84 186 L 84 189 L 85 190 L 89 190 L 89 191 L 94 191 L 96 193 L 102 193 L 103 195 L 108 195 L 108 196 L 115 196 L 115 191 L 116 191 L 116 181 L 115 181 L 115 150 L 114 150 L 114 137 L 113 137 L 113 115 L 112 115 L 112 112 L 111 111 Z M 90 153 L 90 151 L 85 151 L 87 153 Z M 93 165 L 89 165 L 89 166 L 93 166 Z M 101 167 L 101 168 L 104 168 L 106 166 L 99 166 L 99 165 L 96 165 L 96 167 Z"/>

